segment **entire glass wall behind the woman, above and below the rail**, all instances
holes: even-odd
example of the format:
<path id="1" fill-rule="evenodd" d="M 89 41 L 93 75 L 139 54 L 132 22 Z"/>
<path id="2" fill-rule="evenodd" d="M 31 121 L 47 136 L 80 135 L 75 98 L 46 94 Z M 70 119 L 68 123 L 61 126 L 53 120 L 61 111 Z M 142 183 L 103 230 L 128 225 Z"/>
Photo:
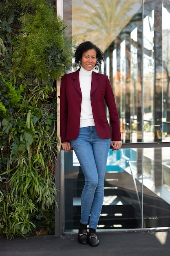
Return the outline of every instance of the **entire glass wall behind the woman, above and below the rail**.
<path id="1" fill-rule="evenodd" d="M 124 144 L 108 155 L 98 228 L 170 227 L 170 0 L 64 0 L 64 20 L 104 52 L 119 111 Z M 68 231 L 84 177 L 74 152 L 62 154 Z"/>

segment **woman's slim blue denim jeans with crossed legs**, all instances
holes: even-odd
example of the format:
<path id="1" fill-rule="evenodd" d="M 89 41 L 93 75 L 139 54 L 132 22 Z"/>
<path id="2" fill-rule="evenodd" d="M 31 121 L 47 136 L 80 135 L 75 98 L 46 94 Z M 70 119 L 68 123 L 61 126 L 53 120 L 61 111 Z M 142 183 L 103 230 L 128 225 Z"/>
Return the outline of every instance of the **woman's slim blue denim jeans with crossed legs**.
<path id="1" fill-rule="evenodd" d="M 99 138 L 95 126 L 88 126 L 80 128 L 78 138 L 70 142 L 85 178 L 80 222 L 88 224 L 90 216 L 89 228 L 96 229 L 102 211 L 104 175 L 111 139 Z"/>

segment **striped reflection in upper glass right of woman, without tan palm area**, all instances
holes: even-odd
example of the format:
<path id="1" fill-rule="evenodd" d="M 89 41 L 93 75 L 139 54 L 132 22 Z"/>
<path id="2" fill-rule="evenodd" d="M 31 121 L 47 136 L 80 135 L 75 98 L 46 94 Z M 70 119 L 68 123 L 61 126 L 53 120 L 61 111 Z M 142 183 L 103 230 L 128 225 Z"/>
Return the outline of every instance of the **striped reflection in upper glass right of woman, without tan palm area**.
<path id="1" fill-rule="evenodd" d="M 139 9 L 107 49 L 123 142 L 170 141 L 169 7 L 145 1 L 143 33 Z"/>

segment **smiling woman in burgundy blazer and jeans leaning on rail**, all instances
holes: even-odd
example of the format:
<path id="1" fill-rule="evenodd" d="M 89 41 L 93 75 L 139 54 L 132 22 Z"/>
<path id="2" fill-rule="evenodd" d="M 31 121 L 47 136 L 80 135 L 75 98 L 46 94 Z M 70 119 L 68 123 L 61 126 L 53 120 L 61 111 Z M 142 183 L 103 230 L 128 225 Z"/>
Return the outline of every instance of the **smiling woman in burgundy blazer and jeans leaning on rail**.
<path id="1" fill-rule="evenodd" d="M 63 76 L 60 94 L 62 148 L 68 152 L 73 148 L 85 177 L 78 241 L 93 247 L 99 244 L 95 233 L 104 199 L 108 151 L 110 145 L 113 150 L 122 145 L 119 116 L 108 76 L 93 71 L 102 61 L 102 51 L 96 45 L 89 41 L 78 45 L 75 65 L 79 65 L 79 69 Z"/>

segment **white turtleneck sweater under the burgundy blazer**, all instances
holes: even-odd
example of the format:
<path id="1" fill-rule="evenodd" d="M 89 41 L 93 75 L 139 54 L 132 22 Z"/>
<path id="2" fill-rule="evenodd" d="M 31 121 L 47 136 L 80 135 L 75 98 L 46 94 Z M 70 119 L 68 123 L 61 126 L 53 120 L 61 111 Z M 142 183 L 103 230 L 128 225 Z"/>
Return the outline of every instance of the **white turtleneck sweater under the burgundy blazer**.
<path id="1" fill-rule="evenodd" d="M 92 71 L 83 67 L 79 71 L 79 83 L 82 91 L 82 105 L 80 114 L 80 127 L 95 126 L 91 108 L 91 76 Z"/>

